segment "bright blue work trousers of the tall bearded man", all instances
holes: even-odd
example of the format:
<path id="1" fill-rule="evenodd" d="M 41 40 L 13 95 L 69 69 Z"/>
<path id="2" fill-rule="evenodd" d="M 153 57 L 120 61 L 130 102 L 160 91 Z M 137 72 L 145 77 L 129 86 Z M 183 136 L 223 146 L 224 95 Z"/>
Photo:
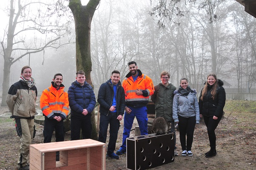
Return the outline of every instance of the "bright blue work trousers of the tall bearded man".
<path id="1" fill-rule="evenodd" d="M 148 113 L 147 107 L 140 107 L 140 108 L 132 108 L 131 113 L 128 114 L 125 112 L 124 116 L 124 131 L 122 133 L 122 146 L 120 148 L 126 149 L 126 138 L 130 137 L 131 127 L 134 123 L 134 118 L 136 116 L 137 122 L 139 124 L 139 130 L 141 135 L 148 134 Z"/>

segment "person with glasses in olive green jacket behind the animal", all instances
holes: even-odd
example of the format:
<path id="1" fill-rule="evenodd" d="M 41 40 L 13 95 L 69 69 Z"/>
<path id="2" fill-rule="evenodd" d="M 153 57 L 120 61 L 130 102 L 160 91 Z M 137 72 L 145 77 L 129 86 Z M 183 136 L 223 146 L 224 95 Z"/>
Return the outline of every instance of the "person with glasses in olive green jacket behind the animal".
<path id="1" fill-rule="evenodd" d="M 170 74 L 167 71 L 162 71 L 160 75 L 162 80 L 158 85 L 156 85 L 155 92 L 151 96 L 152 102 L 155 103 L 155 117 L 163 117 L 168 123 L 171 123 L 171 132 L 174 133 L 174 155 L 177 156 L 176 152 L 176 133 L 173 119 L 173 99 L 174 91 L 176 87 L 169 82 Z"/>

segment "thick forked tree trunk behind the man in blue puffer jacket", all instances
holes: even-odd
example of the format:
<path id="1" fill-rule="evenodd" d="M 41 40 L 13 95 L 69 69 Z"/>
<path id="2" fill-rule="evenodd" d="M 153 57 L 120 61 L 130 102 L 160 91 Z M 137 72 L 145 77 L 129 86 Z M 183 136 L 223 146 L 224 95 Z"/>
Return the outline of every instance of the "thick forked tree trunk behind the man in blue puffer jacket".
<path id="1" fill-rule="evenodd" d="M 86 6 L 82 6 L 81 0 L 69 0 L 76 31 L 76 65 L 77 71 L 85 72 L 86 81 L 91 82 L 91 20 L 100 0 L 90 0 Z M 92 133 L 91 138 L 97 140 L 97 127 L 95 122 L 95 113 L 91 116 Z"/>

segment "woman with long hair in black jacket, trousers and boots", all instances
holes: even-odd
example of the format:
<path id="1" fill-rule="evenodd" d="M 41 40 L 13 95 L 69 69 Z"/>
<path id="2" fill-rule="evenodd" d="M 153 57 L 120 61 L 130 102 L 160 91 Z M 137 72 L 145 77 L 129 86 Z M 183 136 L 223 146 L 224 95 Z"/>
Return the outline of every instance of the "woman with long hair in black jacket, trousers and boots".
<path id="1" fill-rule="evenodd" d="M 226 101 L 224 83 L 217 79 L 216 75 L 211 73 L 207 76 L 207 82 L 201 91 L 199 97 L 200 117 L 204 116 L 210 141 L 210 150 L 205 153 L 205 157 L 216 156 L 216 135 L 215 129 L 223 115 L 223 108 Z"/>

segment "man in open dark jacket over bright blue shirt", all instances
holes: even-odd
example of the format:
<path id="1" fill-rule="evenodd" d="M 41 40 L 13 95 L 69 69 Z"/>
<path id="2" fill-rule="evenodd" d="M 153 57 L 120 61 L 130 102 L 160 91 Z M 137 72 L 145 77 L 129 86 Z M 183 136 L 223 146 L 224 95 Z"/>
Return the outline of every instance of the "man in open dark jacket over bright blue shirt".
<path id="1" fill-rule="evenodd" d="M 119 80 L 119 71 L 112 71 L 111 79 L 100 86 L 98 93 L 98 102 L 100 103 L 99 142 L 106 143 L 109 124 L 110 137 L 107 156 L 114 159 L 119 159 L 114 150 L 116 148 L 120 121 L 125 111 L 125 91 Z"/>

